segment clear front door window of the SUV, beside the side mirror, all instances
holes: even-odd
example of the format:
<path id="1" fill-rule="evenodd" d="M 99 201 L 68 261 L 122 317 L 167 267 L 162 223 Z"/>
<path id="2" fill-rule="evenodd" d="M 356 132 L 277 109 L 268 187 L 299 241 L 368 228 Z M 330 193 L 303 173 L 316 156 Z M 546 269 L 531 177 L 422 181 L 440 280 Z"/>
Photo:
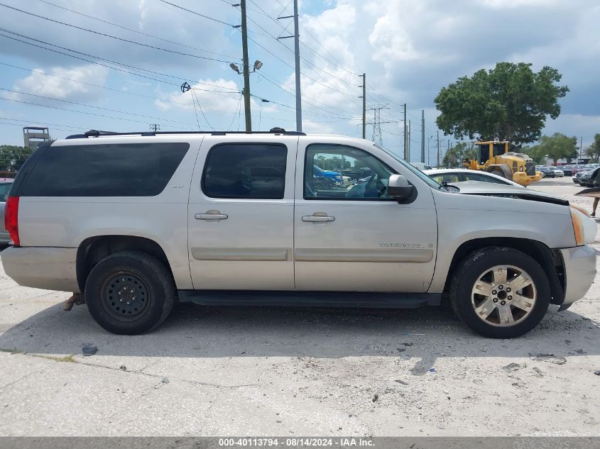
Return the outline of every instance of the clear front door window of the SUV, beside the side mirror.
<path id="1" fill-rule="evenodd" d="M 343 145 L 315 144 L 306 150 L 305 199 L 389 199 L 393 174 L 373 155 Z"/>

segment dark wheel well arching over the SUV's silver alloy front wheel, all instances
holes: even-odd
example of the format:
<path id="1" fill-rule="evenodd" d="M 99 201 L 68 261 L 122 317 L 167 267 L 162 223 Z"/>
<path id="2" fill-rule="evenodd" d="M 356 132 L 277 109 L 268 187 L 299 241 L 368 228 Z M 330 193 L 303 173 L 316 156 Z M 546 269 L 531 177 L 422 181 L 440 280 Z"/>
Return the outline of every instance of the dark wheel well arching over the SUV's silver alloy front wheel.
<path id="1" fill-rule="evenodd" d="M 452 282 L 454 270 L 457 269 L 459 263 L 469 254 L 474 253 L 474 251 L 489 246 L 513 248 L 533 257 L 533 259 L 541 265 L 548 277 L 548 282 L 550 282 L 550 292 L 552 294 L 551 304 L 562 304 L 562 301 L 564 300 L 564 262 L 560 251 L 550 250 L 550 248 L 543 243 L 527 238 L 478 238 L 463 243 L 454 253 L 454 257 L 452 257 L 452 262 L 450 263 L 446 283 L 444 285 L 444 292 L 448 291 L 450 282 Z"/>

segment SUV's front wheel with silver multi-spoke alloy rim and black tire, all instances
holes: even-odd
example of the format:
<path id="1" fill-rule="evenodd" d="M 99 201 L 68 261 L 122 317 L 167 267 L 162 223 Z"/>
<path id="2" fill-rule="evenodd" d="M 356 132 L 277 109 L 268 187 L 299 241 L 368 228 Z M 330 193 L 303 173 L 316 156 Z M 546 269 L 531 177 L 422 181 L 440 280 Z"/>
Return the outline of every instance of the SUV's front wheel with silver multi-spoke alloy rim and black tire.
<path id="1" fill-rule="evenodd" d="M 450 286 L 454 313 L 476 333 L 515 338 L 542 321 L 550 305 L 547 276 L 532 257 L 489 247 L 463 260 Z"/>

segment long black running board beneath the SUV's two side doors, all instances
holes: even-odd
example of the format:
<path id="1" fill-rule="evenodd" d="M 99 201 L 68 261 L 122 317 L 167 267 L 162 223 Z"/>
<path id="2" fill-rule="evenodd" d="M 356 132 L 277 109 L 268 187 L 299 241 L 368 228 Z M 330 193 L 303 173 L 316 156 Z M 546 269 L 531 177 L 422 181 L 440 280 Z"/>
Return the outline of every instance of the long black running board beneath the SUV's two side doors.
<path id="1" fill-rule="evenodd" d="M 202 306 L 293 306 L 418 309 L 439 306 L 440 293 L 285 292 L 253 290 L 179 290 L 181 302 Z"/>

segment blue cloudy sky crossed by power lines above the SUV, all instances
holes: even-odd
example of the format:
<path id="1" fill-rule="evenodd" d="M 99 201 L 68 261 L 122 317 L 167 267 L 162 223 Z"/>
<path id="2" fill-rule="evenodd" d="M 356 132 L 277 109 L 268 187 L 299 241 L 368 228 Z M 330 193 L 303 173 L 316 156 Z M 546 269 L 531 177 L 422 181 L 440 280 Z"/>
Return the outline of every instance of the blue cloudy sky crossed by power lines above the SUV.
<path id="1" fill-rule="evenodd" d="M 26 4 L 25 4 L 26 3 Z M 233 0 L 0 0 L 0 144 L 23 126 L 52 138 L 89 129 L 244 130 L 241 12 Z M 18 11 L 21 10 L 21 11 Z M 253 130 L 295 130 L 288 0 L 248 0 Z M 596 0 L 300 0 L 302 131 L 361 136 L 381 109 L 383 145 L 419 160 L 421 111 L 430 160 L 434 99 L 496 62 L 555 67 L 570 92 L 545 134 L 600 133 L 600 4 Z M 192 87 L 181 92 L 187 82 Z M 367 126 L 371 139 L 373 127 Z M 442 148 L 450 136 L 440 133 Z M 426 150 L 427 152 L 427 150 Z"/>

